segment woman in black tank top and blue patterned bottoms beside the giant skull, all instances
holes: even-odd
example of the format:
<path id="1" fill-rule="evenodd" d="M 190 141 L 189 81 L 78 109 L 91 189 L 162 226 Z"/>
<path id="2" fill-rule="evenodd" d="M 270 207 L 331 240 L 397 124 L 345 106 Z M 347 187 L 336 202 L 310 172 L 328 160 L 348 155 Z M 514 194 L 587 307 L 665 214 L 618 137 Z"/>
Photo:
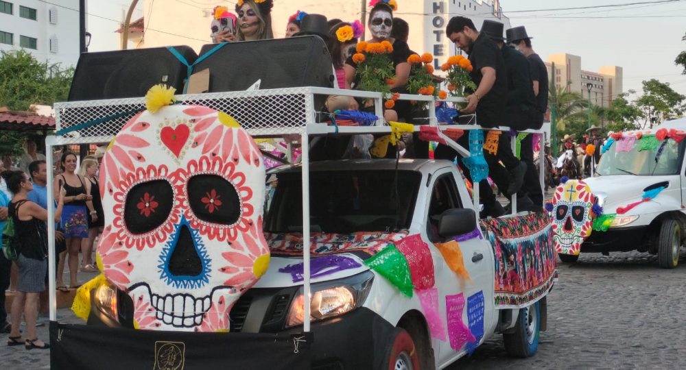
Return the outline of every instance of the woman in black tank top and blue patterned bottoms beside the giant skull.
<path id="1" fill-rule="evenodd" d="M 63 286 L 62 271 L 64 271 L 65 255 L 69 254 L 69 286 L 78 288 L 76 274 L 79 267 L 79 251 L 81 249 L 81 239 L 88 237 L 88 214 L 94 211 L 91 197 L 90 182 L 77 175 L 76 155 L 71 152 L 64 152 L 60 159 L 64 172 L 55 177 L 54 192 L 57 199 L 60 187 L 64 187 L 66 195 L 64 197 L 64 211 L 60 219 L 61 227 L 64 232 L 64 240 L 67 244 L 67 251 L 60 254 L 60 262 L 57 268 L 58 290 L 65 291 Z"/>

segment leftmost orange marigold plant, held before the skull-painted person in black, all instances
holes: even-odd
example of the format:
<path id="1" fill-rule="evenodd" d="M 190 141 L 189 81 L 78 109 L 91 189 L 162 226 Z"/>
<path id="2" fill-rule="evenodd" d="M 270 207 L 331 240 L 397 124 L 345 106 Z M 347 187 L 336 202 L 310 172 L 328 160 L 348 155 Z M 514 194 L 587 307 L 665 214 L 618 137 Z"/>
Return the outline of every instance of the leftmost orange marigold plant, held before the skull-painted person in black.
<path id="1" fill-rule="evenodd" d="M 393 45 L 388 41 L 369 43 L 361 41 L 357 44 L 357 53 L 353 55 L 353 62 L 357 64 L 359 76 L 359 90 L 376 91 L 390 97 L 384 106 L 393 108 L 394 95 L 391 95 L 390 85 L 395 83 L 395 68 L 386 54 L 393 52 Z M 397 97 L 395 97 L 397 99 Z"/>

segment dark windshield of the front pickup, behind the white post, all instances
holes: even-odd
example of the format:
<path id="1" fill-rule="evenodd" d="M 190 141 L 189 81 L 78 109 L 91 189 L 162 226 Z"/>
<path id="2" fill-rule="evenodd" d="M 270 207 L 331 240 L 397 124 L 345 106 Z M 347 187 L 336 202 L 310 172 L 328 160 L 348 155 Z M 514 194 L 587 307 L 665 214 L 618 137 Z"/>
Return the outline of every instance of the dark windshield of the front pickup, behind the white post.
<path id="1" fill-rule="evenodd" d="M 267 188 L 263 229 L 302 232 L 301 175 L 279 173 L 276 178 Z M 421 173 L 312 171 L 309 181 L 312 232 L 394 232 L 410 227 Z"/>

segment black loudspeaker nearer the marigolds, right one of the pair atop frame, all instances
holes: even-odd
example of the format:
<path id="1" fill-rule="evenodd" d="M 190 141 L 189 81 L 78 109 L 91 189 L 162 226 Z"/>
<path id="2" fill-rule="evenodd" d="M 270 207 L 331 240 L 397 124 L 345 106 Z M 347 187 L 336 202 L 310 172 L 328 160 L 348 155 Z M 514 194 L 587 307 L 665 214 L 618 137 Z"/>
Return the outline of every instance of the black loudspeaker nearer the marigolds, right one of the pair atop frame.
<path id="1" fill-rule="evenodd" d="M 217 45 L 204 45 L 200 56 Z M 210 69 L 210 92 L 300 86 L 333 87 L 329 49 L 319 36 L 232 42 L 198 63 L 193 71 Z"/>

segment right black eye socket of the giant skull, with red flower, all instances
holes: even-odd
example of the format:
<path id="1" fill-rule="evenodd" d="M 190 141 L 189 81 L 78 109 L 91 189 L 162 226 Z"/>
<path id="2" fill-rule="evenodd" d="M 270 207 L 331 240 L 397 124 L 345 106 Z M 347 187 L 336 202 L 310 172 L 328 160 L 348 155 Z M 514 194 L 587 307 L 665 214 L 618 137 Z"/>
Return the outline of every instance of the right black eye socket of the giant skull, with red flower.
<path id="1" fill-rule="evenodd" d="M 224 177 L 197 175 L 188 180 L 188 201 L 198 219 L 233 225 L 241 217 L 238 192 Z"/>

